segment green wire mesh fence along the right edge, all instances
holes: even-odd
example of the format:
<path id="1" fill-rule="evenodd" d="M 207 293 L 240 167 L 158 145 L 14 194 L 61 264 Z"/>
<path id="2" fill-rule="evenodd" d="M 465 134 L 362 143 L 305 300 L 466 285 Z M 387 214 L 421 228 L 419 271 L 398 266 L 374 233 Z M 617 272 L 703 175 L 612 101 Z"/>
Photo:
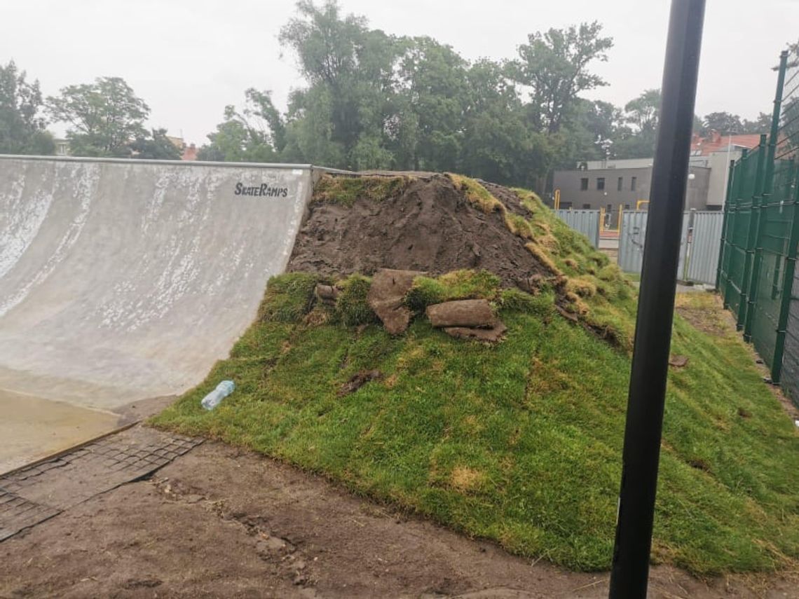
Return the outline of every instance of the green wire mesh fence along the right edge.
<path id="1" fill-rule="evenodd" d="M 799 326 L 788 327 L 792 311 L 799 325 L 799 305 L 792 303 L 799 242 L 797 146 L 799 55 L 793 51 L 780 57 L 769 135 L 730 165 L 717 281 L 725 306 L 775 383 L 786 347 L 797 353 L 799 366 Z"/>

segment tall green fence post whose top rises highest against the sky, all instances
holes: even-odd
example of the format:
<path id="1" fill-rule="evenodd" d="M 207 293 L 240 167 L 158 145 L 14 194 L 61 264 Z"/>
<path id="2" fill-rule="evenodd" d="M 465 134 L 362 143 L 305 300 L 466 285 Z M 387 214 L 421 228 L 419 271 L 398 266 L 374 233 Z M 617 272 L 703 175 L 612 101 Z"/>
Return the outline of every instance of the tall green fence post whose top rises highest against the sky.
<path id="1" fill-rule="evenodd" d="M 782 105 L 782 88 L 785 85 L 785 71 L 788 65 L 788 50 L 780 53 L 780 67 L 777 75 L 777 93 L 774 94 L 774 109 L 771 115 L 771 131 L 769 132 L 769 148 L 765 153 L 765 170 L 763 179 L 758 185 L 760 190 L 760 201 L 757 202 L 757 237 L 755 238 L 754 264 L 752 267 L 752 278 L 749 281 L 749 305 L 746 307 L 746 322 L 744 325 L 744 340 L 752 339 L 752 327 L 754 321 L 754 306 L 757 303 L 757 285 L 760 283 L 760 270 L 763 264 L 763 234 L 765 233 L 766 207 L 769 205 L 769 197 L 774 189 L 774 154 L 777 149 L 777 135 L 780 130 L 780 113 Z M 761 145 L 763 143 L 761 136 Z M 761 148 L 762 151 L 762 148 Z M 760 162 L 758 161 L 758 173 L 761 172 Z M 754 206 L 753 206 L 754 208 Z M 775 359 L 776 362 L 776 359 Z"/>

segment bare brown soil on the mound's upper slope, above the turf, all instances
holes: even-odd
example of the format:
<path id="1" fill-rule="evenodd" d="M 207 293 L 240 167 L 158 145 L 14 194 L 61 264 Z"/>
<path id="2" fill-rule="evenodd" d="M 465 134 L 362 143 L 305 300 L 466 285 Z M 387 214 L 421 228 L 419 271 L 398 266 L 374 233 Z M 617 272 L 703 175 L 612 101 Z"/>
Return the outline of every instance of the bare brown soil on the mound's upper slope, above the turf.
<path id="1" fill-rule="evenodd" d="M 381 177 L 358 180 L 370 178 Z M 484 268 L 509 286 L 535 274 L 551 274 L 525 248 L 524 240 L 508 230 L 499 211 L 476 208 L 450 177 L 382 179 L 380 192 L 356 188 L 352 177 L 349 182 L 344 177 L 323 179 L 297 236 L 288 271 L 333 276 L 372 274 L 378 268 L 432 274 Z M 331 192 L 336 180 L 349 186 L 346 193 Z M 497 185 L 490 190 L 510 212 L 523 213 L 513 192 Z"/>

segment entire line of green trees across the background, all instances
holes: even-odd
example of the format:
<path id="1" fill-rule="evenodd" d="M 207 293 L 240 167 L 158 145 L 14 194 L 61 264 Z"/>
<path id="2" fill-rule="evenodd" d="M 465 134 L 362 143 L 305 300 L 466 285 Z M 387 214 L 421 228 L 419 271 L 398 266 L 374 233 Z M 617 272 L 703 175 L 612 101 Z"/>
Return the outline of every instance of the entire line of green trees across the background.
<path id="1" fill-rule="evenodd" d="M 280 42 L 305 85 L 282 113 L 271 93 L 247 89 L 238 107 L 225 107 L 200 160 L 454 171 L 540 187 L 552 169 L 654 150 L 658 89 L 624 106 L 583 97 L 607 85 L 592 71 L 613 46 L 598 22 L 530 34 L 512 59 L 468 61 L 430 37 L 371 29 L 335 0 L 302 0 Z M 38 81 L 26 81 L 13 62 L 0 65 L 0 153 L 52 153 L 49 119 L 69 125 L 76 156 L 179 157 L 164 129 L 145 128 L 148 116 L 119 77 L 44 99 Z M 718 112 L 694 126 L 760 133 L 768 118 Z"/>

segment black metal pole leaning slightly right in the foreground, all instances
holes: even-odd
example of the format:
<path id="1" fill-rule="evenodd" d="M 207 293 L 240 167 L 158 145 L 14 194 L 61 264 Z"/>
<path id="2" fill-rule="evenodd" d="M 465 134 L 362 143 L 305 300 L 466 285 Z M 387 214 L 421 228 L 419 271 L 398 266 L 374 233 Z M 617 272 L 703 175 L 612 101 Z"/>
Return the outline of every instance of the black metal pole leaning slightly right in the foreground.
<path id="1" fill-rule="evenodd" d="M 611 599 L 646 597 L 704 15 L 705 0 L 672 0 L 627 398 Z"/>

